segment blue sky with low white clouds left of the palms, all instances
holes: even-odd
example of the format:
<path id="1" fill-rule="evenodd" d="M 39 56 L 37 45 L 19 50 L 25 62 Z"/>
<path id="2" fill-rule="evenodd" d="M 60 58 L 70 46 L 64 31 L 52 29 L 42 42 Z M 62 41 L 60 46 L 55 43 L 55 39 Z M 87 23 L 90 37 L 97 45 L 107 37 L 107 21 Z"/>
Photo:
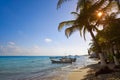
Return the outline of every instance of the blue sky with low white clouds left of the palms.
<path id="1" fill-rule="evenodd" d="M 58 0 L 0 0 L 0 56 L 53 56 L 87 54 L 91 37 L 86 41 L 75 32 L 69 38 L 62 21 L 75 19 L 76 2 Z"/>

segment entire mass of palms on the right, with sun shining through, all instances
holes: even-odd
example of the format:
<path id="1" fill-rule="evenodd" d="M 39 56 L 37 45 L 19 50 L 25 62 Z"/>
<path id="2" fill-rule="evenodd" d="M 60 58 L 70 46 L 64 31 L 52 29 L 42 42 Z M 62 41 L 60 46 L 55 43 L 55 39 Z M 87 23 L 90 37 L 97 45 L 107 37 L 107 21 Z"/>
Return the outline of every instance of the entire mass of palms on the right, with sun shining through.
<path id="1" fill-rule="evenodd" d="M 57 8 L 65 1 L 58 0 Z M 90 52 L 98 55 L 102 66 L 106 60 L 119 65 L 120 58 L 120 2 L 119 0 L 78 0 L 75 20 L 63 21 L 58 30 L 66 27 L 65 35 L 69 37 L 79 31 L 85 39 L 85 33 L 92 37 Z M 102 29 L 99 29 L 102 28 Z M 96 34 L 95 34 L 96 32 Z"/>

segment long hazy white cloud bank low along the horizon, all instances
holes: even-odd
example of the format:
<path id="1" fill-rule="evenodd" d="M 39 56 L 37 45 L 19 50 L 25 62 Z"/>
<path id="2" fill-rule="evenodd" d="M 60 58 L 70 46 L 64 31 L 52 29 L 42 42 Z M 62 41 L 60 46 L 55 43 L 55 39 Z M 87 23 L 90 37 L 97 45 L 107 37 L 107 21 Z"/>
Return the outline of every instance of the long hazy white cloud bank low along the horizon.
<path id="1" fill-rule="evenodd" d="M 52 41 L 52 40 L 51 40 Z M 8 42 L 6 45 L 0 45 L 0 55 L 32 56 L 32 55 L 82 55 L 86 52 L 85 47 L 54 44 L 53 46 L 31 46 L 23 48 L 15 42 Z"/>

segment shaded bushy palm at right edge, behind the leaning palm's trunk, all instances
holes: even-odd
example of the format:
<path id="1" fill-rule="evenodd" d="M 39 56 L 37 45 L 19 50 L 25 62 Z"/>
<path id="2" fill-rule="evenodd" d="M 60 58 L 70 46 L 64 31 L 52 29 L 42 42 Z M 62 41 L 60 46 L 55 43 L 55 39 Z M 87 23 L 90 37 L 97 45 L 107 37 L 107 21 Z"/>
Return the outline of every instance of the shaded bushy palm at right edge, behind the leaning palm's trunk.
<path id="1" fill-rule="evenodd" d="M 120 30 L 118 29 L 120 27 L 120 18 L 116 18 L 117 15 L 118 13 L 111 13 L 110 15 L 106 15 L 103 22 L 101 22 L 102 25 L 104 25 L 104 29 L 96 35 L 96 39 L 98 40 L 99 45 L 104 50 L 106 49 L 106 53 L 109 49 L 111 49 L 112 52 L 110 53 L 113 54 L 115 65 L 120 65 L 116 58 L 116 54 L 119 53 L 117 46 L 120 40 Z"/>

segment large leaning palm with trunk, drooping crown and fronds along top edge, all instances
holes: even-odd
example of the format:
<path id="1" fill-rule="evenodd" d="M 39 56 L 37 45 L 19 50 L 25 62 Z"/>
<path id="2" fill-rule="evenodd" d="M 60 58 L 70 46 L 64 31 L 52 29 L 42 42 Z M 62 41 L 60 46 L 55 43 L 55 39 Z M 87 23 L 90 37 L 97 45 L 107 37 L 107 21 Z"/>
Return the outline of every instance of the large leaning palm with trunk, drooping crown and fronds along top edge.
<path id="1" fill-rule="evenodd" d="M 57 7 L 60 7 L 62 2 L 65 2 L 65 1 L 68 1 L 68 0 L 59 0 Z M 97 45 L 97 49 L 101 59 L 101 65 L 106 65 L 106 63 L 101 51 L 101 47 L 99 46 L 99 43 L 97 42 L 95 35 L 93 33 L 93 29 L 97 30 L 96 26 L 99 23 L 99 19 L 95 17 L 96 11 L 106 10 L 109 4 L 111 3 L 111 0 L 109 4 L 106 4 L 106 6 L 103 7 L 105 5 L 105 2 L 106 0 L 99 0 L 94 2 L 93 4 L 93 2 L 89 0 L 78 0 L 77 10 L 80 11 L 79 12 L 80 14 L 77 17 L 77 19 L 72 21 L 61 22 L 58 27 L 58 29 L 60 30 L 65 25 L 69 25 L 69 26 L 71 25 L 71 27 L 66 28 L 65 30 L 65 34 L 67 37 L 69 37 L 74 31 L 78 30 L 80 31 L 80 34 L 83 35 L 85 38 L 85 33 L 86 31 L 88 31 L 91 34 L 91 37 L 93 38 L 95 44 Z"/>

